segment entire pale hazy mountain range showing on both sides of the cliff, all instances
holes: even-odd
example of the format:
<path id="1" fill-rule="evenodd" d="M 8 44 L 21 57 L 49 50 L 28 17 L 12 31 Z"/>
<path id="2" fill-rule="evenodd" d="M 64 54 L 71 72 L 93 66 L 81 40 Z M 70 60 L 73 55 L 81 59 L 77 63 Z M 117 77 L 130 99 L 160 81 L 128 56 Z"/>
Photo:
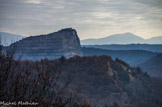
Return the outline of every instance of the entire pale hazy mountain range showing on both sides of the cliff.
<path id="1" fill-rule="evenodd" d="M 21 35 L 0 32 L 0 37 L 3 46 L 9 46 L 11 43 L 14 43 L 22 38 L 25 38 Z M 132 33 L 123 33 L 110 35 L 104 38 L 99 39 L 85 39 L 81 40 L 81 45 L 104 45 L 104 44 L 162 44 L 162 36 L 152 37 L 150 39 L 143 39 L 139 36 L 136 36 Z"/>

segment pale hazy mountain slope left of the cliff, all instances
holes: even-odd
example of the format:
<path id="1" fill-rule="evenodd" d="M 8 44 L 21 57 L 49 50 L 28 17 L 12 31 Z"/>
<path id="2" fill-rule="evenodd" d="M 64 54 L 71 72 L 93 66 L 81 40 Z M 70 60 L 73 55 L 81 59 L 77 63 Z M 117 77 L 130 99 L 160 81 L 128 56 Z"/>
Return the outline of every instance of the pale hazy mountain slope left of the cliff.
<path id="1" fill-rule="evenodd" d="M 9 46 L 10 44 L 19 41 L 21 39 L 25 38 L 21 35 L 6 33 L 6 32 L 0 32 L 0 41 L 1 45 L 3 46 Z"/>

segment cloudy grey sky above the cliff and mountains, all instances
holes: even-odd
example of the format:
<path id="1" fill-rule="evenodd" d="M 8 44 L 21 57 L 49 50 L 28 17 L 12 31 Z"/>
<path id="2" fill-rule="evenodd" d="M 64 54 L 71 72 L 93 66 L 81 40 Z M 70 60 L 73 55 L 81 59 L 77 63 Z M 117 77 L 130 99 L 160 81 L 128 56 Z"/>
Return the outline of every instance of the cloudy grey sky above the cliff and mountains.
<path id="1" fill-rule="evenodd" d="M 30 36 L 67 27 L 80 39 L 162 36 L 162 0 L 0 0 L 0 31 Z"/>

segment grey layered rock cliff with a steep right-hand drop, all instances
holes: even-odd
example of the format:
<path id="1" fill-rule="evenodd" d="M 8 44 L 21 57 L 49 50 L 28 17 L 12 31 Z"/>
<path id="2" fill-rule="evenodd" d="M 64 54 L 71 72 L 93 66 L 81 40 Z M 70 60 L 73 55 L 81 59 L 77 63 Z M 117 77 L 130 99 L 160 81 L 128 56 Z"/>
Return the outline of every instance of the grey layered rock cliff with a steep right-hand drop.
<path id="1" fill-rule="evenodd" d="M 62 29 L 47 35 L 27 37 L 11 44 L 8 48 L 13 49 L 14 47 L 16 50 L 15 58 L 22 56 L 22 60 L 82 56 L 80 40 L 76 30 L 72 28 Z"/>

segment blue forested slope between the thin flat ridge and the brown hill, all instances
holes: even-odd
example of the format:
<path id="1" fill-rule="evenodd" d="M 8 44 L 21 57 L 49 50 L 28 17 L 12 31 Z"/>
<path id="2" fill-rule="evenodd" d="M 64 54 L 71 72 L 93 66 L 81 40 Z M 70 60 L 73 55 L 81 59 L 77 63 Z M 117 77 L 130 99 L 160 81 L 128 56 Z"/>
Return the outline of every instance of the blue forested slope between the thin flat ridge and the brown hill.
<path id="1" fill-rule="evenodd" d="M 145 50 L 106 50 L 99 48 L 82 48 L 82 51 L 84 56 L 109 55 L 113 59 L 119 58 L 131 66 L 137 66 L 157 54 Z"/>

